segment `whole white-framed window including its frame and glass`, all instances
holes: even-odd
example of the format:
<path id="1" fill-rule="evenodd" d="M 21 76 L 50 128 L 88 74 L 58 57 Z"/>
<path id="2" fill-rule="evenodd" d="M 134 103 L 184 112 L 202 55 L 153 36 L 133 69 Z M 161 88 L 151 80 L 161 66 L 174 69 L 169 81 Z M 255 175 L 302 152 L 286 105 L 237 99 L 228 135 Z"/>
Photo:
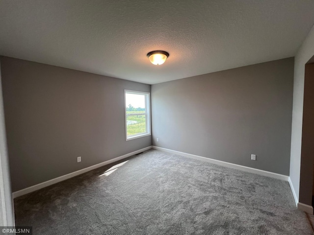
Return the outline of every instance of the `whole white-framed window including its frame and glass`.
<path id="1" fill-rule="evenodd" d="M 124 91 L 126 114 L 126 140 L 151 135 L 150 94 Z"/>

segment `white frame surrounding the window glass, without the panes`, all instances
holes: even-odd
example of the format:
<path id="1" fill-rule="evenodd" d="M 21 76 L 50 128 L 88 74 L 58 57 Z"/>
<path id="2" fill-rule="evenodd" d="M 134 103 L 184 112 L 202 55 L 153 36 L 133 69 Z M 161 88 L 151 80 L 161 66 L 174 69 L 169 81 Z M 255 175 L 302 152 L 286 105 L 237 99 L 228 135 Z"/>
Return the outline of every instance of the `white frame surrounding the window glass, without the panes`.
<path id="1" fill-rule="evenodd" d="M 145 95 L 145 115 L 146 115 L 146 133 L 135 134 L 128 137 L 128 129 L 127 129 L 127 100 L 126 94 L 144 94 Z M 139 91 L 131 91 L 124 90 L 124 114 L 125 114 L 125 126 L 126 126 L 126 141 L 131 141 L 137 138 L 142 138 L 145 136 L 151 136 L 151 94 L 149 92 L 139 92 Z"/>

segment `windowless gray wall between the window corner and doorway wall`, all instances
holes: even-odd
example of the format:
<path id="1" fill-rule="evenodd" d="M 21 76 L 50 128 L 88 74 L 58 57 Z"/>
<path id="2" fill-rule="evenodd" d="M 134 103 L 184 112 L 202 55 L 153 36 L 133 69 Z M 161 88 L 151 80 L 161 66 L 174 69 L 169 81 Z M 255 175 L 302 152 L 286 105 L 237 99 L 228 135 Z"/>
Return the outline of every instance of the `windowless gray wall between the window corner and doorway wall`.
<path id="1" fill-rule="evenodd" d="M 152 85 L 153 145 L 289 175 L 293 63 Z"/>

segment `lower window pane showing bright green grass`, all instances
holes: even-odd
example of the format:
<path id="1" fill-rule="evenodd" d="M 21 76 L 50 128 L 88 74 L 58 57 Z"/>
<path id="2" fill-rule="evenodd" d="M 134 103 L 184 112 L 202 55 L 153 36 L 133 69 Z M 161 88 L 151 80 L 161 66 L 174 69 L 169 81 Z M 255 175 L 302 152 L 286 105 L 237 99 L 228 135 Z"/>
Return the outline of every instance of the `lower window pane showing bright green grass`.
<path id="1" fill-rule="evenodd" d="M 136 115 L 136 112 L 127 111 L 127 133 L 128 136 L 146 133 L 146 115 Z M 130 115 L 131 113 L 131 115 Z"/>

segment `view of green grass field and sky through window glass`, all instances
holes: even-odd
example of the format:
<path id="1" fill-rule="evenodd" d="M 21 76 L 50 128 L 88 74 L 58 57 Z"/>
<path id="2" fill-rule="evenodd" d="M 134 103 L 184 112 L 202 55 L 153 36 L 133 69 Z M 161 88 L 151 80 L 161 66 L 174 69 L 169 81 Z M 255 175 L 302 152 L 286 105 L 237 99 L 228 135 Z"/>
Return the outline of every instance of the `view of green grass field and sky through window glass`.
<path id="1" fill-rule="evenodd" d="M 127 136 L 147 133 L 145 94 L 126 93 Z"/>

